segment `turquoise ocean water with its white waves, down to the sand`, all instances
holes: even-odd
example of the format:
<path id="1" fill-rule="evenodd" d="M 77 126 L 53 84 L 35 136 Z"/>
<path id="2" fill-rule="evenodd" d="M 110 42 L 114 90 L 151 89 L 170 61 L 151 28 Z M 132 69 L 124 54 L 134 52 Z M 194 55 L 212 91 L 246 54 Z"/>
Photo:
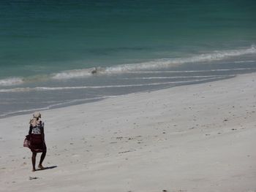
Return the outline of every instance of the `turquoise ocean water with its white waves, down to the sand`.
<path id="1" fill-rule="evenodd" d="M 255 72 L 255 10 L 252 0 L 2 0 L 0 115 Z"/>

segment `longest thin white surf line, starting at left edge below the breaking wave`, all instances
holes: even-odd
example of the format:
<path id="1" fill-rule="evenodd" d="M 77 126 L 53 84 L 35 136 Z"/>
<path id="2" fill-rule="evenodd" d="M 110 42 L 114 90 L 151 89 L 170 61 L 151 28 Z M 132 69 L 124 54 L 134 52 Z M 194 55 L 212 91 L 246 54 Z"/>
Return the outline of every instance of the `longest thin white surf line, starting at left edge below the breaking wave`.
<path id="1" fill-rule="evenodd" d="M 235 77 L 235 76 L 233 76 Z M 105 85 L 105 86 L 78 86 L 78 87 L 36 87 L 36 88 L 12 88 L 12 89 L 1 89 L 0 93 L 12 93 L 12 92 L 28 92 L 28 91 L 61 91 L 61 90 L 72 90 L 72 89 L 85 89 L 85 88 L 129 88 L 129 87 L 142 87 L 150 85 L 169 85 L 177 83 L 190 83 L 190 82 L 201 82 L 206 80 L 217 80 L 225 77 L 211 77 L 200 80 L 187 80 L 187 81 L 172 81 L 172 82 L 154 82 L 148 84 L 134 84 L 134 85 Z"/>

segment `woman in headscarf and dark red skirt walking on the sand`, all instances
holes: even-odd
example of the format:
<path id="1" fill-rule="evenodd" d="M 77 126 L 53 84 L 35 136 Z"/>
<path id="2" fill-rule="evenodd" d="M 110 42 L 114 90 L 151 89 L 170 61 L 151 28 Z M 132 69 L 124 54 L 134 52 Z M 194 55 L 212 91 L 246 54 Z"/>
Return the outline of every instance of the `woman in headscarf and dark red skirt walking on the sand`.
<path id="1" fill-rule="evenodd" d="M 42 153 L 38 165 L 39 169 L 44 169 L 42 161 L 44 161 L 46 155 L 44 123 L 41 120 L 41 114 L 39 112 L 34 112 L 33 118 L 29 121 L 29 125 L 29 148 L 32 152 L 32 172 L 35 172 L 37 153 Z"/>

